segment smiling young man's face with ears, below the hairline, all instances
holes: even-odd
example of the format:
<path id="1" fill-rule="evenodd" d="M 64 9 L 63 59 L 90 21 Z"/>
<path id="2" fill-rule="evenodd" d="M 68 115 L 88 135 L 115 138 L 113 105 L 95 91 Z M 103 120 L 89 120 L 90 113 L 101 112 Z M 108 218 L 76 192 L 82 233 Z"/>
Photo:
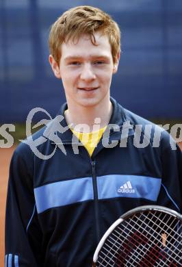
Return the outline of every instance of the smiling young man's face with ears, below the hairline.
<path id="1" fill-rule="evenodd" d="M 62 44 L 60 66 L 49 58 L 55 76 L 62 79 L 69 105 L 93 107 L 102 101 L 109 103 L 109 88 L 117 64 L 112 59 L 107 36 L 94 34 L 96 44 L 90 36 L 83 35 L 78 42 L 70 40 Z"/>

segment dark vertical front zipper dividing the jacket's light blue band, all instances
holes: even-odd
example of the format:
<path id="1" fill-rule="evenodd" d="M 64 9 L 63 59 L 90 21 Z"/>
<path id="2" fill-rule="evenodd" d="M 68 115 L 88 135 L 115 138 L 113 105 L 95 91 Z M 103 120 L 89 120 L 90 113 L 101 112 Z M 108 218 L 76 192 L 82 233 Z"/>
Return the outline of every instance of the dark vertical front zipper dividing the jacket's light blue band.
<path id="1" fill-rule="evenodd" d="M 99 207 L 98 207 L 98 192 L 96 184 L 96 172 L 95 172 L 95 161 L 91 161 L 92 165 L 92 181 L 94 189 L 94 212 L 95 212 L 95 223 L 96 223 L 96 243 L 100 240 L 100 229 L 99 229 Z"/>

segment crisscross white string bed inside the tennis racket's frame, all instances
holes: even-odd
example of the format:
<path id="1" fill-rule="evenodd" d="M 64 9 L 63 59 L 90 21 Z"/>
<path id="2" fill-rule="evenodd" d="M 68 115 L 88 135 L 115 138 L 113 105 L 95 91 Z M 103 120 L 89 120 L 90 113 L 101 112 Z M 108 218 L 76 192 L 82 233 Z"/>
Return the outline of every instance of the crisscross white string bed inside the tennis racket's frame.
<path id="1" fill-rule="evenodd" d="M 150 225 L 154 225 L 155 229 L 152 229 Z M 121 229 L 121 226 L 124 227 L 124 229 Z M 179 246 L 181 246 L 182 237 L 173 228 L 179 231 L 181 225 L 179 227 L 177 218 L 169 214 L 165 214 L 164 216 L 161 215 L 161 212 L 159 214 L 157 214 L 157 212 L 155 212 L 155 214 L 149 212 L 149 214 L 140 214 L 140 216 L 135 214 L 129 219 L 129 222 L 125 220 L 124 224 L 116 227 L 107 238 L 103 249 L 101 249 L 99 253 L 99 266 L 127 266 L 124 264 L 121 256 L 127 260 L 128 266 L 154 266 L 151 265 L 152 262 L 157 264 L 157 266 L 177 267 L 177 265 L 174 265 L 177 263 L 182 266 L 182 262 L 179 262 L 181 259 Z M 167 241 L 164 240 L 167 242 L 165 246 L 161 242 L 161 233 L 166 233 L 167 237 L 170 237 L 170 240 L 169 238 L 167 238 Z M 145 238 L 147 242 L 144 241 Z M 129 242 L 131 244 L 129 244 Z M 175 246 L 175 244 L 177 246 Z M 123 246 L 125 246 L 124 250 Z M 174 251 L 172 251 L 171 248 L 174 248 Z M 171 255 L 166 253 L 167 250 L 170 251 Z M 165 262 L 163 259 L 165 259 Z M 170 262 L 170 259 L 172 259 L 172 262 Z M 138 261 L 142 261 L 142 265 L 138 265 L 140 264 Z M 166 263 L 166 261 L 169 263 Z"/>

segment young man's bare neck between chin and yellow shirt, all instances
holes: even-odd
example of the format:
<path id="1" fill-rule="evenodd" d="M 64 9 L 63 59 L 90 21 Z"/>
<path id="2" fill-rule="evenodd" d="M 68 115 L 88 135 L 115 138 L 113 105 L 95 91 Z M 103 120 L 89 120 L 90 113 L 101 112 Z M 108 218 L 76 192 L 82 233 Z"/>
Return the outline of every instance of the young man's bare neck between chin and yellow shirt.
<path id="1" fill-rule="evenodd" d="M 84 107 L 81 105 L 69 105 L 65 112 L 68 125 L 72 125 L 75 131 L 90 132 L 98 127 L 101 129 L 108 125 L 112 116 L 112 103 L 99 103 L 94 107 Z M 78 126 L 79 125 L 79 126 Z M 84 125 L 81 127 L 81 125 Z"/>

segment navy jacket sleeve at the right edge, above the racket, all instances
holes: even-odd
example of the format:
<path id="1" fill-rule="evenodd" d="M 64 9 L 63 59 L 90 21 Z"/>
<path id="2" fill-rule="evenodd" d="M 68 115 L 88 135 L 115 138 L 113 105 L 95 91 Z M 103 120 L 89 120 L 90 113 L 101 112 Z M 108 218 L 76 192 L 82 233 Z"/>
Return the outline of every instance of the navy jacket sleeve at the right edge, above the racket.
<path id="1" fill-rule="evenodd" d="M 162 140 L 161 168 L 162 180 L 158 205 L 170 207 L 182 214 L 182 153 L 169 135 Z"/>

